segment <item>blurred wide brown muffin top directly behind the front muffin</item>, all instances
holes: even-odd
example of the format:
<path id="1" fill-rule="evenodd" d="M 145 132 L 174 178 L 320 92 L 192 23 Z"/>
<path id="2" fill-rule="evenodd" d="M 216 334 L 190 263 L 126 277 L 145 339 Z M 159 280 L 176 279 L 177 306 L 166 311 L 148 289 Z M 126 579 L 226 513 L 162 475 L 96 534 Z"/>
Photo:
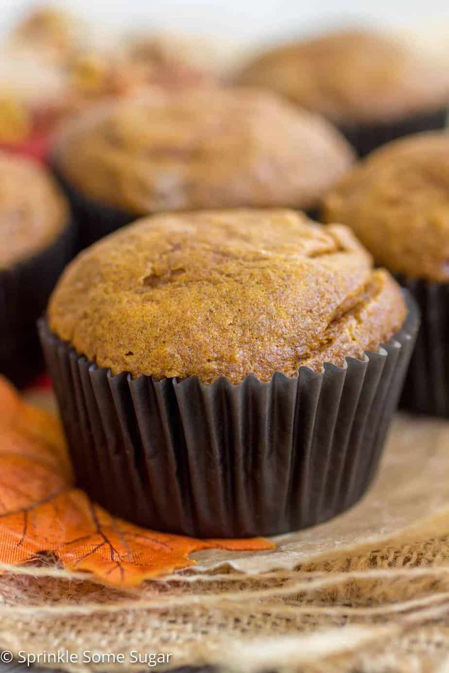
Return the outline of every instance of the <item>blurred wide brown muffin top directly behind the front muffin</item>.
<path id="1" fill-rule="evenodd" d="M 55 164 L 88 197 L 129 213 L 308 208 L 353 161 L 322 118 L 272 94 L 153 90 L 68 125 Z"/>

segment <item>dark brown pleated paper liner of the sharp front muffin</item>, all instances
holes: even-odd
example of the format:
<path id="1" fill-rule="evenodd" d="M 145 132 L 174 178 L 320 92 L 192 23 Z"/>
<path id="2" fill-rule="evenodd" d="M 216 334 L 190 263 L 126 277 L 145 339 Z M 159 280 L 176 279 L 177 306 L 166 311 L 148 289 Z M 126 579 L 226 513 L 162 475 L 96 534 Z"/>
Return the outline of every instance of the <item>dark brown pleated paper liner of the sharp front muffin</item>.
<path id="1" fill-rule="evenodd" d="M 79 485 L 116 516 L 197 537 L 273 535 L 355 503 L 376 472 L 419 325 L 346 367 L 207 386 L 112 376 L 40 322 Z"/>

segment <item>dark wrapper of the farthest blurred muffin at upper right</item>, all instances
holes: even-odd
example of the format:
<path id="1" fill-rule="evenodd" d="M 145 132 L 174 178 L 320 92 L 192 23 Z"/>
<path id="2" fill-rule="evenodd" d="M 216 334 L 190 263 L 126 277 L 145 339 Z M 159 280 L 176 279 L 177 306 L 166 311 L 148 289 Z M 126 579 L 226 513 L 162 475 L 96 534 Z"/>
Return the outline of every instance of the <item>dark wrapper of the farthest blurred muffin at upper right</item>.
<path id="1" fill-rule="evenodd" d="M 364 157 L 371 151 L 411 133 L 444 129 L 448 118 L 448 109 L 435 110 L 398 120 L 397 122 L 373 125 L 340 125 L 339 130 L 357 151 Z"/>

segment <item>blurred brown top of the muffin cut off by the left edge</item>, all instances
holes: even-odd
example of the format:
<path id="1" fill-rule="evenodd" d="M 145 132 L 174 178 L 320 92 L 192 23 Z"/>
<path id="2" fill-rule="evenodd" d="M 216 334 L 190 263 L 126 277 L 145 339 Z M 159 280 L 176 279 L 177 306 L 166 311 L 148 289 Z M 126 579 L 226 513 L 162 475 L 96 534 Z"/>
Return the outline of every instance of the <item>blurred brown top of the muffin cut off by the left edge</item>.
<path id="1" fill-rule="evenodd" d="M 0 270 L 52 244 L 68 219 L 65 198 L 44 168 L 0 153 Z"/>

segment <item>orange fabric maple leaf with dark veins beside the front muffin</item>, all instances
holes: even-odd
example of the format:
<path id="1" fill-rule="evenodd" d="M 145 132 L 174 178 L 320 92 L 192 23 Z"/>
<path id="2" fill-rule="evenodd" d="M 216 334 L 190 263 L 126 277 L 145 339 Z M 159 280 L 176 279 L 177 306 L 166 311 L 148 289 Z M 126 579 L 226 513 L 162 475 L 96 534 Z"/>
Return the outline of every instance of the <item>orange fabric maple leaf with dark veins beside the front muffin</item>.
<path id="1" fill-rule="evenodd" d="M 25 404 L 1 377 L 0 408 L 0 563 L 18 565 L 50 555 L 67 570 L 132 586 L 193 565 L 188 554 L 201 549 L 273 548 L 265 538 L 197 540 L 114 518 L 73 486 L 54 415 Z"/>

